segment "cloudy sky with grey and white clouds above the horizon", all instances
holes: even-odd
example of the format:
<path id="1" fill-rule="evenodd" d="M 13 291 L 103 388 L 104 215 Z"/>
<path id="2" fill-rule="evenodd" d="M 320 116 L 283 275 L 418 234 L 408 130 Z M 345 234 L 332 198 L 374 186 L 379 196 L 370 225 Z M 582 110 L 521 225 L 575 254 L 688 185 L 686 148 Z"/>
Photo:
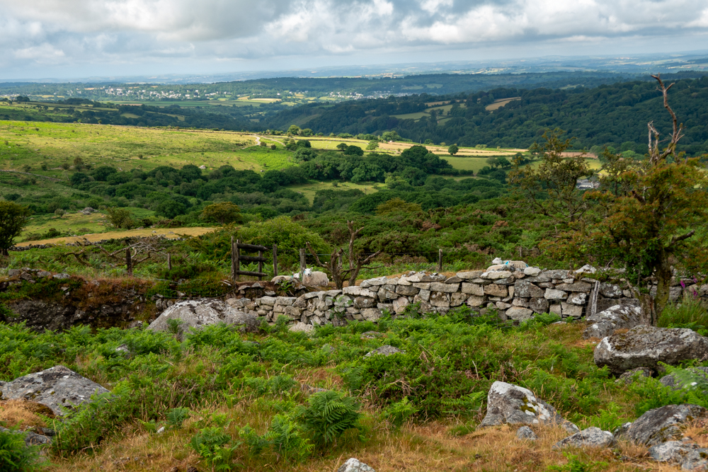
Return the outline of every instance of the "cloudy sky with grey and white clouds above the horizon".
<path id="1" fill-rule="evenodd" d="M 0 0 L 0 79 L 667 53 L 708 0 Z"/>

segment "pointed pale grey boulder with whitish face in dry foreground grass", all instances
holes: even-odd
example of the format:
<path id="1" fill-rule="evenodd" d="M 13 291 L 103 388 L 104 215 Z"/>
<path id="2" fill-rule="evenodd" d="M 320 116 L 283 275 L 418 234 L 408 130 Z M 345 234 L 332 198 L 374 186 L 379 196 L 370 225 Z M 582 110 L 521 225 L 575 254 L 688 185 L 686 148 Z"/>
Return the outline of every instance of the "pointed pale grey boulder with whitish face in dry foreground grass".
<path id="1" fill-rule="evenodd" d="M 562 425 L 569 432 L 578 432 L 578 427 L 564 420 L 556 409 L 539 400 L 527 388 L 496 381 L 487 395 L 487 413 L 481 426 L 498 425 Z"/>

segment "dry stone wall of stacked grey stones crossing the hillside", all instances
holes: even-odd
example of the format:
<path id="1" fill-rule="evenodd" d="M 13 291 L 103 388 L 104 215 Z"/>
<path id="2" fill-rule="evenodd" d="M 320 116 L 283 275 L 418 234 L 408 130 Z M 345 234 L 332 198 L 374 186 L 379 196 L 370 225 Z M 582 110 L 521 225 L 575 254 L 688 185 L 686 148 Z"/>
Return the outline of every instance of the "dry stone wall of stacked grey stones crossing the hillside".
<path id="1" fill-rule="evenodd" d="M 363 280 L 358 286 L 343 290 L 253 301 L 229 299 L 227 303 L 256 311 L 269 322 L 282 315 L 292 323 L 315 326 L 337 326 L 354 320 L 376 322 L 384 312 L 404 313 L 410 304 L 420 304 L 423 313 L 440 314 L 466 305 L 478 315 L 498 313 L 502 320 L 513 321 L 525 321 L 537 313 L 581 318 L 614 305 L 639 306 L 627 287 L 600 282 L 593 278 L 594 272 L 590 266 L 576 271 L 542 270 L 523 261 L 503 261 L 487 270 L 457 272 L 453 277 L 409 272 L 401 277 Z M 703 288 L 708 292 L 708 287 Z M 671 298 L 679 299 L 683 290 L 679 280 L 672 288 Z"/>

